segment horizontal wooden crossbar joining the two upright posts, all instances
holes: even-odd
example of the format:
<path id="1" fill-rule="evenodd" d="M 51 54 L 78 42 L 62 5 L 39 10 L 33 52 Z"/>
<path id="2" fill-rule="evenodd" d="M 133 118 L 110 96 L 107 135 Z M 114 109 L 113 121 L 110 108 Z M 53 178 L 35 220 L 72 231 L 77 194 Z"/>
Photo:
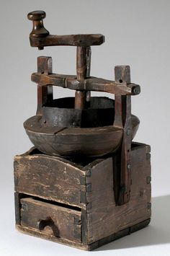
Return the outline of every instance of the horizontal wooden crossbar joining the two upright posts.
<path id="1" fill-rule="evenodd" d="M 140 86 L 138 84 L 116 83 L 115 81 L 95 77 L 78 81 L 75 76 L 33 73 L 31 79 L 37 84 L 46 86 L 50 84 L 74 90 L 109 92 L 120 95 L 137 95 L 140 93 Z"/>

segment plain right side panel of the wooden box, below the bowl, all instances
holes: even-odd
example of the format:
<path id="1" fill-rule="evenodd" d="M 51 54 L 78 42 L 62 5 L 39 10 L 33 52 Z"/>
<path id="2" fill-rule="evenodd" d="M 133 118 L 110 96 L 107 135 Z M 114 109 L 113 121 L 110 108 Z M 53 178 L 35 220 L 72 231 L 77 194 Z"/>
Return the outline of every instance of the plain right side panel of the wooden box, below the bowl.
<path id="1" fill-rule="evenodd" d="M 130 201 L 123 206 L 115 206 L 111 159 L 91 169 L 91 176 L 88 177 L 91 192 L 86 193 L 87 202 L 91 202 L 87 213 L 88 244 L 151 218 L 151 207 L 148 207 L 151 206 L 151 183 L 147 182 L 151 164 L 146 159 L 146 152 L 145 145 L 133 146 Z"/>

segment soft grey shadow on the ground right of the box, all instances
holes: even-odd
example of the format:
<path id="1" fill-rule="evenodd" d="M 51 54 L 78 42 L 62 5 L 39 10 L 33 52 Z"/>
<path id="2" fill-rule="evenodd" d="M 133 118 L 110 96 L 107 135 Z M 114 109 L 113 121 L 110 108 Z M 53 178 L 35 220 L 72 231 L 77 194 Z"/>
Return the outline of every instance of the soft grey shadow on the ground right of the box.
<path id="1" fill-rule="evenodd" d="M 142 247 L 154 244 L 170 243 L 170 195 L 152 198 L 151 224 L 130 236 L 99 247 L 95 251 L 121 250 L 130 247 Z"/>

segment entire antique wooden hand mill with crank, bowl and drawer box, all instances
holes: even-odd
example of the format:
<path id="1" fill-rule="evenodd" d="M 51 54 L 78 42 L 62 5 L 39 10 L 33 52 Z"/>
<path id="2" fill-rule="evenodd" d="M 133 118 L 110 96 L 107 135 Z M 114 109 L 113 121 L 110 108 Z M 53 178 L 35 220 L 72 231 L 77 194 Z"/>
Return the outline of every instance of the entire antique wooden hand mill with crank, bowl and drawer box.
<path id="1" fill-rule="evenodd" d="M 129 66 L 115 66 L 115 81 L 90 76 L 91 45 L 104 43 L 103 35 L 50 35 L 44 18 L 42 11 L 28 14 L 31 46 L 76 46 L 77 74 L 54 74 L 52 58 L 37 58 L 37 113 L 24 122 L 34 147 L 14 159 L 16 226 L 94 250 L 150 222 L 151 149 L 132 142 L 139 120 L 131 95 L 140 87 Z M 53 100 L 53 86 L 73 89 L 75 97 Z"/>

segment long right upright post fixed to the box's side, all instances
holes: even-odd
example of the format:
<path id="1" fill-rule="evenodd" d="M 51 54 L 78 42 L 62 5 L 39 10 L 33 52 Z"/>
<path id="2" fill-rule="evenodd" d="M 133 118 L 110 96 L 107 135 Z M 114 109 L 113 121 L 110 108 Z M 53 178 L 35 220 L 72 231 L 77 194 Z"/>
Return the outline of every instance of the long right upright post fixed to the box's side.
<path id="1" fill-rule="evenodd" d="M 115 66 L 115 81 L 117 83 L 130 84 L 130 66 Z M 123 129 L 120 187 L 117 205 L 128 203 L 130 200 L 130 151 L 131 151 L 131 96 L 115 95 L 115 122 L 114 125 Z"/>

